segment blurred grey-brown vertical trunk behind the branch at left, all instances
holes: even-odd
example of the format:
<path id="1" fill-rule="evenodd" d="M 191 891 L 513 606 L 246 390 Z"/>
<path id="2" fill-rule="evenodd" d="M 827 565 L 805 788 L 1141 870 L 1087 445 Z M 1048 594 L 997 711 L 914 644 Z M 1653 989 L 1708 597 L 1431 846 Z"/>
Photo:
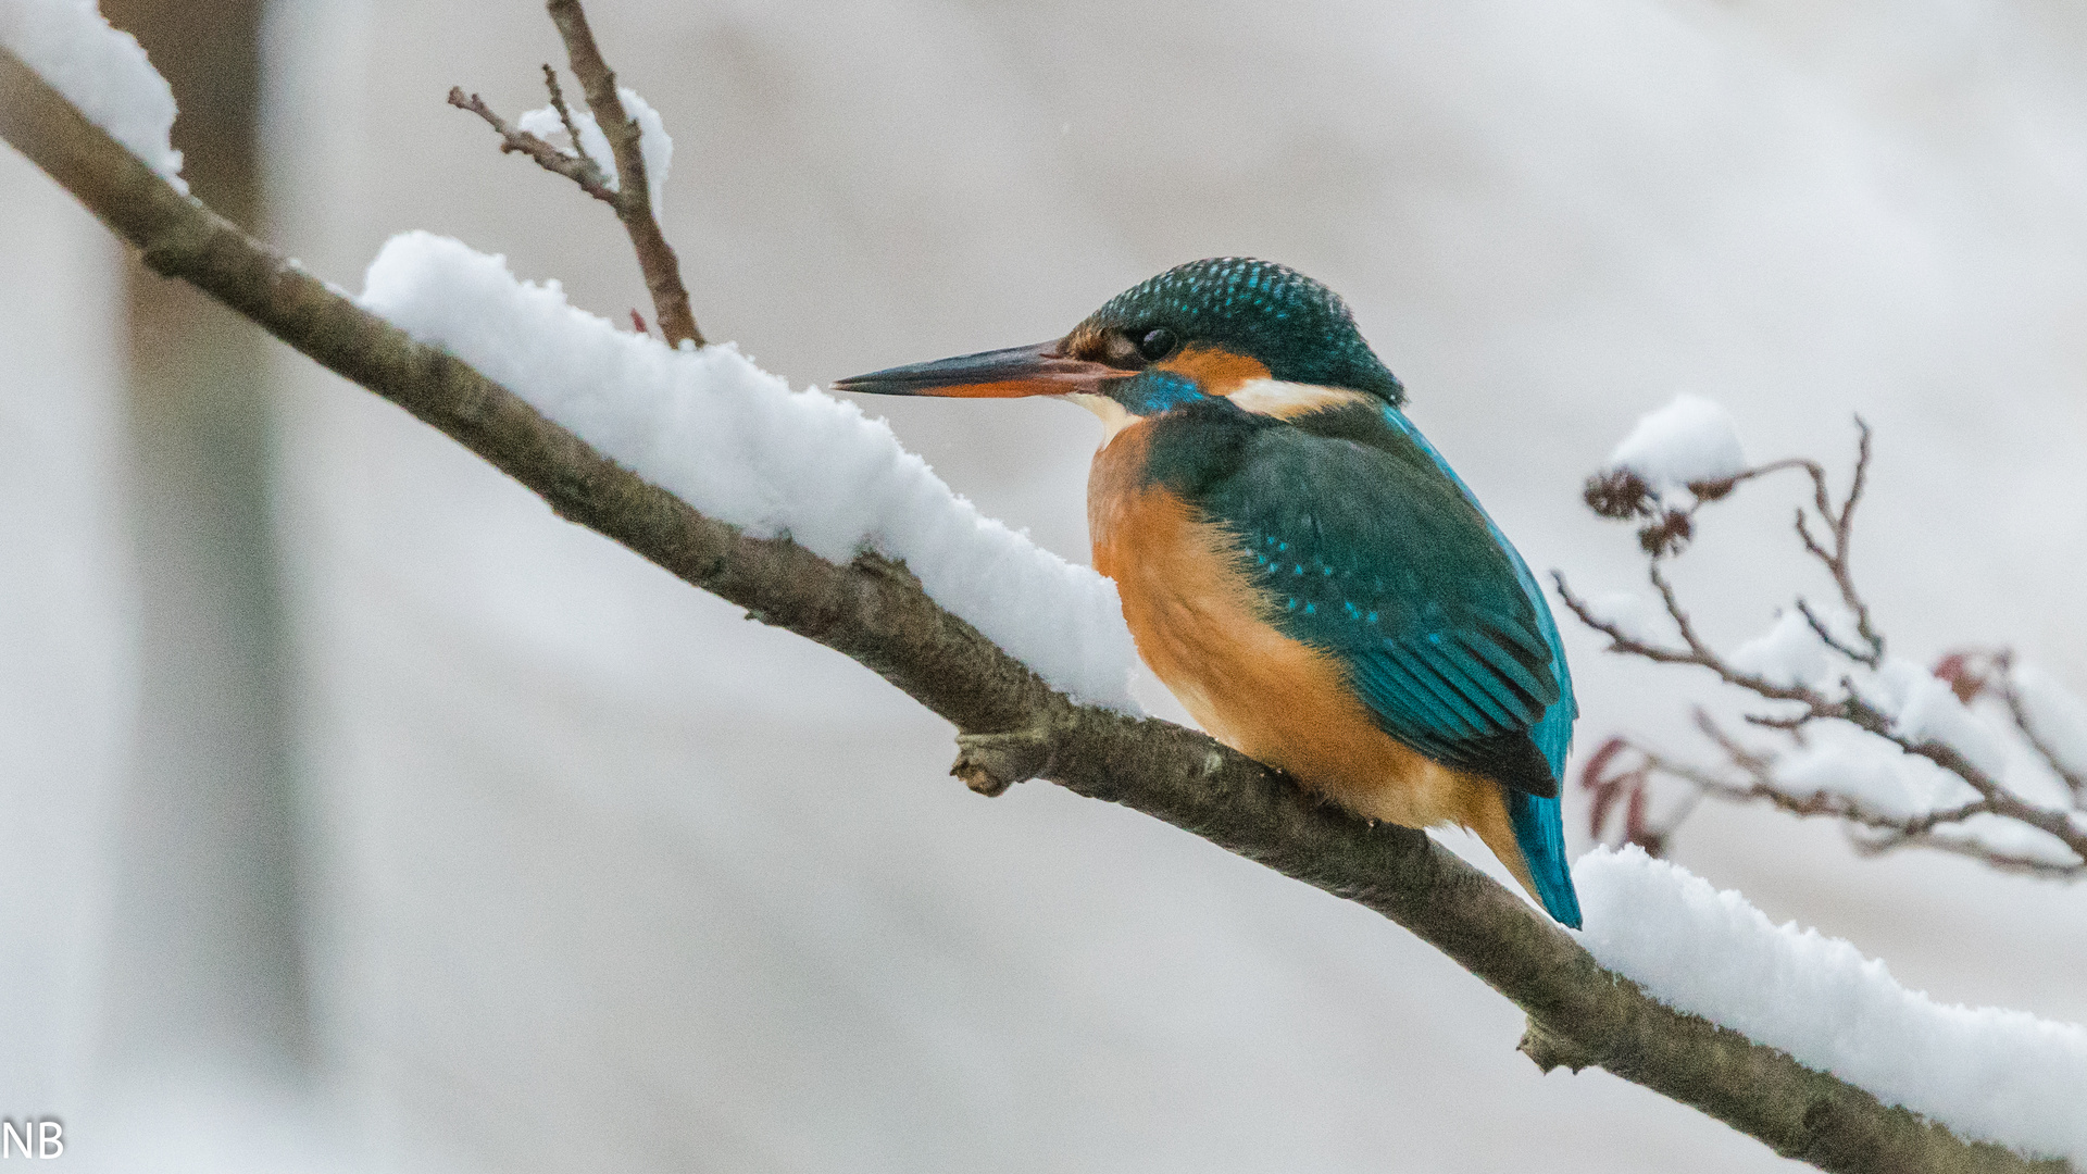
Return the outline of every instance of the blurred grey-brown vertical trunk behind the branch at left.
<path id="1" fill-rule="evenodd" d="M 259 226 L 261 0 L 102 0 L 173 84 L 194 192 Z M 265 338 L 129 265 L 140 691 L 119 796 L 100 1065 L 309 1067 Z"/>

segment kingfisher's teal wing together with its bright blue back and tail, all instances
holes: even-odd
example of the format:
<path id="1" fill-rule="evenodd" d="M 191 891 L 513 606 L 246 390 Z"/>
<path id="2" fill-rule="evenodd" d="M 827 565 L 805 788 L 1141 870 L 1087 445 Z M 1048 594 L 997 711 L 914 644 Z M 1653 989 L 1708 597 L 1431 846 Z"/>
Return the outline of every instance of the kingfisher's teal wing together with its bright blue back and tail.
<path id="1" fill-rule="evenodd" d="M 1275 625 L 1338 656 L 1380 727 L 1503 783 L 1544 909 L 1580 925 L 1559 781 L 1578 706 L 1528 564 L 1396 409 L 1213 409 L 1152 474 L 1225 522 Z"/>

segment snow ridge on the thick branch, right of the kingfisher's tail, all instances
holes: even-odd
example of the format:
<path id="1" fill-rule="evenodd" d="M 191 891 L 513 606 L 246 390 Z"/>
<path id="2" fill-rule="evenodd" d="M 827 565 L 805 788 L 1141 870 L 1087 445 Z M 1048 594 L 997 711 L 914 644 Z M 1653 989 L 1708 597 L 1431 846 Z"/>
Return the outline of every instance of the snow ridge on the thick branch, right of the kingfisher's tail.
<path id="1" fill-rule="evenodd" d="M 1588 852 L 1574 884 L 1580 942 L 1653 999 L 1962 1136 L 2087 1161 L 2087 1028 L 1935 1003 L 1849 942 L 1774 925 L 1636 846 Z"/>

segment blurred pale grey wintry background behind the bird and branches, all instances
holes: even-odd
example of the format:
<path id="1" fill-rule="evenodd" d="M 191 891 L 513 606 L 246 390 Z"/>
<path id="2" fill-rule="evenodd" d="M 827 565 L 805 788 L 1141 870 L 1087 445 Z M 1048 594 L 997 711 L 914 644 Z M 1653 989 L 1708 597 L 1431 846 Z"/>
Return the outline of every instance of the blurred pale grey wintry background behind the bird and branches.
<path id="1" fill-rule="evenodd" d="M 622 320 L 611 215 L 442 104 L 538 4 L 104 0 L 198 194 L 359 286 L 430 228 Z M 1346 295 L 1536 568 L 1676 391 L 1845 474 L 1895 652 L 2087 689 L 2087 10 L 2056 0 L 595 0 L 697 320 L 797 384 L 1054 336 L 1167 265 Z M 1396 925 L 1144 817 L 943 775 L 868 671 L 568 526 L 144 274 L 0 152 L 0 1111 L 90 1170 L 1774 1170 Z M 649 318 L 649 307 L 647 307 Z M 891 403 L 1085 560 L 1098 426 Z M 1801 487 L 1680 564 L 1828 585 Z M 1707 681 L 1567 627 L 1580 750 Z M 1160 712 L 1177 712 L 1156 689 Z M 1574 850 L 1588 844 L 1567 798 Z M 1484 856 L 1484 852 L 1478 852 Z M 1943 1001 L 2087 1019 L 2087 888 L 1701 811 L 1676 859 Z"/>

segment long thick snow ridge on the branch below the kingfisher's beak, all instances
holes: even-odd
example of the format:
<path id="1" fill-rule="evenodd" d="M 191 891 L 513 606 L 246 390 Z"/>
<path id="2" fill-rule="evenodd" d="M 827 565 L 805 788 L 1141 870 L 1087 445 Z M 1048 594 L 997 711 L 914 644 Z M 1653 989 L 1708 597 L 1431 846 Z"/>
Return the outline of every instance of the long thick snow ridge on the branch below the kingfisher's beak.
<path id="1" fill-rule="evenodd" d="M 833 562 L 906 560 L 1054 687 L 1137 712 L 1114 583 L 981 516 L 854 403 L 791 391 L 728 343 L 674 351 L 618 330 L 557 282 L 518 282 L 505 257 L 428 232 L 384 244 L 359 303 L 712 518 Z"/>

